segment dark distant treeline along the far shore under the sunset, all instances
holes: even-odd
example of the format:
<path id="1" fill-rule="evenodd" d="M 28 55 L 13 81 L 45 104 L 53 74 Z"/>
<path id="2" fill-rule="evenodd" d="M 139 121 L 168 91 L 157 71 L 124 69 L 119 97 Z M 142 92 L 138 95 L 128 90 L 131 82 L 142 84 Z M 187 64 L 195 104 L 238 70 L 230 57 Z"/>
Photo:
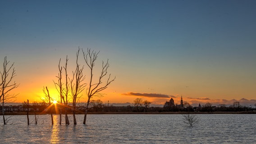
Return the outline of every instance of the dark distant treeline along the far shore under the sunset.
<path id="1" fill-rule="evenodd" d="M 27 106 L 24 104 L 20 105 L 10 105 L 5 106 L 5 112 L 9 113 L 22 113 L 27 111 Z M 29 105 L 29 111 L 38 114 L 47 114 L 54 113 L 58 114 L 64 107 L 61 104 L 52 104 L 50 107 L 46 103 L 32 103 Z M 83 114 L 85 110 L 84 104 L 78 106 L 76 109 L 77 114 Z M 0 107 L 0 111 L 2 108 Z M 249 112 L 256 111 L 256 108 L 242 106 L 239 103 L 234 103 L 233 105 L 227 107 L 224 104 L 220 104 L 218 106 L 212 106 L 210 103 L 206 103 L 205 105 L 192 107 L 187 106 L 184 108 L 179 107 L 150 107 L 150 106 L 113 106 L 103 103 L 91 103 L 88 108 L 88 112 Z M 72 107 L 68 108 L 68 112 L 72 113 Z"/>

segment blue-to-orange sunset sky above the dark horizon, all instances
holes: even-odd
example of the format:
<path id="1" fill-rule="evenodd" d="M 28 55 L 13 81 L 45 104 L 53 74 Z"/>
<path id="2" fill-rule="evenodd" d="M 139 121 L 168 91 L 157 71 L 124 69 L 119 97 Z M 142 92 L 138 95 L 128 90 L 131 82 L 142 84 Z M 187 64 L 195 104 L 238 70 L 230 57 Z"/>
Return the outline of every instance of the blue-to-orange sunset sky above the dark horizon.
<path id="1" fill-rule="evenodd" d="M 255 15 L 255 0 L 0 0 L 0 62 L 14 62 L 15 102 L 44 86 L 57 99 L 59 59 L 71 75 L 78 47 L 109 59 L 104 103 L 253 100 Z"/>

